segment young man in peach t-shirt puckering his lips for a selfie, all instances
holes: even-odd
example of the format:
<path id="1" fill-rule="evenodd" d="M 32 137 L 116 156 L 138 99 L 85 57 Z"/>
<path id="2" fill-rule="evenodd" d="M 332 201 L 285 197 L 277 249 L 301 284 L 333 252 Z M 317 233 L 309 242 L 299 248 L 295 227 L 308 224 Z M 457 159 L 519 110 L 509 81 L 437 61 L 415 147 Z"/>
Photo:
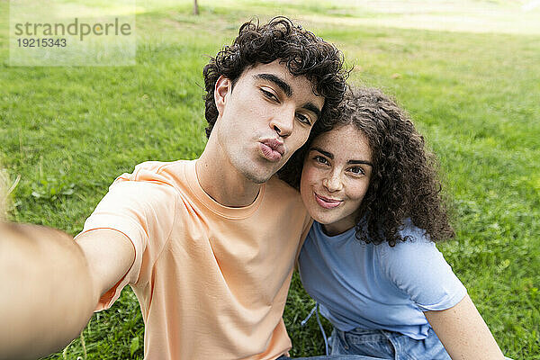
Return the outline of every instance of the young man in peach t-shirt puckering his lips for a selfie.
<path id="1" fill-rule="evenodd" d="M 0 358 L 65 346 L 126 284 L 146 359 L 284 356 L 282 314 L 310 218 L 273 175 L 341 100 L 341 67 L 337 49 L 288 19 L 245 23 L 204 68 L 209 139 L 199 159 L 119 176 L 76 242 L 2 225 L 2 266 L 12 267 L 0 269 L 11 272 L 0 273 L 9 292 Z"/>

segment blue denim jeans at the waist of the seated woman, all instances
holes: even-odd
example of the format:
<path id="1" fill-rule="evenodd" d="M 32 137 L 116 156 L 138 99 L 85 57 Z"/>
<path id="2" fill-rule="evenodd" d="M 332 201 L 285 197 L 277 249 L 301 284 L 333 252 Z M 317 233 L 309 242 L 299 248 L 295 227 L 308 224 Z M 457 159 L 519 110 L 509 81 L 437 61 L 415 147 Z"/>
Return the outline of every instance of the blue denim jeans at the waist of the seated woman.
<path id="1" fill-rule="evenodd" d="M 331 354 L 380 356 L 394 360 L 452 360 L 437 334 L 429 329 L 428 338 L 415 340 L 386 330 L 334 329 L 330 341 Z"/>

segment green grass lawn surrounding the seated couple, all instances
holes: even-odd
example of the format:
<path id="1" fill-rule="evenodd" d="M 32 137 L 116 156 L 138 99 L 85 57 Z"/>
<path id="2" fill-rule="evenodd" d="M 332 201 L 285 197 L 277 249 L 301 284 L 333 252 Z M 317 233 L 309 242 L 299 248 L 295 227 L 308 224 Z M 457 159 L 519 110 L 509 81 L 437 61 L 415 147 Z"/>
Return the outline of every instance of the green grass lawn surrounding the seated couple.
<path id="1" fill-rule="evenodd" d="M 194 17 L 191 2 L 147 0 L 138 3 L 134 67 L 7 67 L 0 1 L 0 162 L 12 179 L 21 175 L 11 217 L 76 234 L 117 175 L 148 159 L 197 157 L 208 56 L 253 15 L 288 14 L 343 49 L 353 84 L 383 87 L 408 109 L 453 199 L 457 238 L 441 250 L 506 356 L 540 359 L 540 32 L 525 26 L 538 13 L 524 14 L 515 33 L 444 31 L 356 3 L 202 3 Z M 434 18 L 498 10 L 484 19 L 493 29 L 519 11 L 511 1 L 456 3 L 452 12 L 436 4 Z M 312 305 L 295 275 L 284 318 L 293 356 L 323 352 L 316 321 L 300 326 Z M 88 359 L 142 358 L 130 289 L 94 315 L 84 338 Z M 66 356 L 84 357 L 79 339 Z"/>

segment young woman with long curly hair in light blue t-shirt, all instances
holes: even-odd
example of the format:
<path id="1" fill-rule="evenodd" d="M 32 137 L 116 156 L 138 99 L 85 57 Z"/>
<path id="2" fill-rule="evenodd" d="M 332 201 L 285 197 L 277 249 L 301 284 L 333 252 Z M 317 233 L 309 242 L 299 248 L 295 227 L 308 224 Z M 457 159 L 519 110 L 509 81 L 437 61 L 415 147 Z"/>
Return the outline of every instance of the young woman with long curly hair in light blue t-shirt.
<path id="1" fill-rule="evenodd" d="M 454 231 L 424 139 L 376 89 L 350 91 L 340 112 L 281 174 L 315 220 L 299 269 L 334 326 L 331 353 L 503 359 L 435 246 Z"/>

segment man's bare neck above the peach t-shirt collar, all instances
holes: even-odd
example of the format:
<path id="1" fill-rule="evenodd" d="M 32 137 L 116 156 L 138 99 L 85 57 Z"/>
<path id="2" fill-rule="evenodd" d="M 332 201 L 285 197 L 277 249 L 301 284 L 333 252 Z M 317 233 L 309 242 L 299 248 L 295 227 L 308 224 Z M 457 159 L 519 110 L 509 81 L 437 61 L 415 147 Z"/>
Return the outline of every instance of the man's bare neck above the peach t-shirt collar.
<path id="1" fill-rule="evenodd" d="M 206 149 L 195 163 L 202 190 L 223 206 L 244 207 L 255 202 L 261 184 L 239 174 L 229 161 L 212 156 Z"/>

